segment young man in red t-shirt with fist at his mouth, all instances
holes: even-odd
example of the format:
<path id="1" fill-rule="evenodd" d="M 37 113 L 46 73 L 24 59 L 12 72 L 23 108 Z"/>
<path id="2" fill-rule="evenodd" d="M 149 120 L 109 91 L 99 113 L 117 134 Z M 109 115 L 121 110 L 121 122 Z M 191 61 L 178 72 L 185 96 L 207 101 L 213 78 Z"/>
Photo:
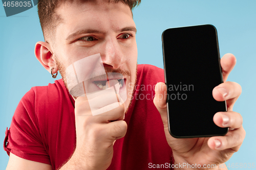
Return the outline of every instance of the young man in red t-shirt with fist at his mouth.
<path id="1" fill-rule="evenodd" d="M 127 100 L 93 116 L 87 97 L 72 98 L 61 80 L 33 87 L 19 103 L 6 131 L 5 150 L 10 153 L 7 169 L 148 169 L 150 163 L 178 165 L 175 169 L 190 169 L 179 166 L 183 163 L 219 169 L 239 150 L 245 131 L 241 115 L 232 107 L 241 87 L 226 82 L 236 58 L 231 54 L 222 58 L 224 83 L 212 91 L 214 98 L 226 100 L 228 107 L 227 112 L 216 113 L 214 122 L 231 130 L 225 136 L 211 138 L 173 138 L 168 132 L 166 99 L 162 98 L 166 86 L 157 83 L 163 82 L 163 70 L 137 66 L 136 26 L 131 12 L 136 3 L 38 2 L 46 41 L 35 45 L 39 62 L 53 77 L 59 70 L 68 87 L 66 68 L 84 57 L 100 54 L 106 72 L 123 74 Z M 137 100 L 135 97 L 152 89 L 143 91 L 135 83 L 157 83 L 154 101 Z M 99 98 L 94 99 L 96 102 Z M 112 99 L 108 102 L 114 103 Z M 204 166 L 211 164 L 217 166 Z M 223 165 L 222 169 L 227 168 Z"/>

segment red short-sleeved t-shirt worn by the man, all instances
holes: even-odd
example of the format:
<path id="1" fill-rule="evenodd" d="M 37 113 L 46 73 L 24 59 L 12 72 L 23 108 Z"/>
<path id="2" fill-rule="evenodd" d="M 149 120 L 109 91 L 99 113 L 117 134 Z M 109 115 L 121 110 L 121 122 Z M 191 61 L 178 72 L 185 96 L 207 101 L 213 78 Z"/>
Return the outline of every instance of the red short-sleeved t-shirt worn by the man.
<path id="1" fill-rule="evenodd" d="M 174 163 L 153 103 L 154 85 L 163 81 L 163 69 L 138 65 L 135 96 L 124 119 L 127 133 L 115 142 L 108 169 L 148 169 L 149 163 Z M 61 79 L 32 87 L 19 102 L 6 130 L 5 151 L 59 168 L 70 158 L 76 143 L 74 103 Z"/>

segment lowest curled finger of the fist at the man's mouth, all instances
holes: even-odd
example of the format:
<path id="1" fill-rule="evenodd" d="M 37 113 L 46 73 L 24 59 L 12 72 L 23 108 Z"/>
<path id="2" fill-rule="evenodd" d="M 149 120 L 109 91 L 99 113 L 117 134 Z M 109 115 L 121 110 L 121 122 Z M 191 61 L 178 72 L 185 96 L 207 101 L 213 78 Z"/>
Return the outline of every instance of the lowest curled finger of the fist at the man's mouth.
<path id="1" fill-rule="evenodd" d="M 118 120 L 106 124 L 105 128 L 108 129 L 106 135 L 108 135 L 108 137 L 114 141 L 125 136 L 127 131 L 127 124 L 124 120 Z"/>

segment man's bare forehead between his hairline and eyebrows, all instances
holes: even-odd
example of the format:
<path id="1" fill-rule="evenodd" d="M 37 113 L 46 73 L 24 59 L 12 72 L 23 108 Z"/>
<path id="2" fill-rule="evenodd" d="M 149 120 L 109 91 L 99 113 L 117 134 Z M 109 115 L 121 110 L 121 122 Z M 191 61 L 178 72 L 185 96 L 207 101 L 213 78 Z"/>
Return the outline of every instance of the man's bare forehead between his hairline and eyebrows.
<path id="1" fill-rule="evenodd" d="M 60 5 L 56 13 L 61 16 L 61 34 L 71 34 L 78 29 L 97 29 L 103 32 L 135 27 L 129 6 L 103 1 L 73 1 Z"/>

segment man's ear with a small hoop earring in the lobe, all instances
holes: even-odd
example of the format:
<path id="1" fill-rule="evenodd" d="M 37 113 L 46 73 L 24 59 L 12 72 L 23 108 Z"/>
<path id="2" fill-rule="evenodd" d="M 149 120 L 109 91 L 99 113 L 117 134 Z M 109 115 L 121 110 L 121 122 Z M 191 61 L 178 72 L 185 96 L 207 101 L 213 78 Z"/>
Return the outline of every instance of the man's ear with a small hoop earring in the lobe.
<path id="1" fill-rule="evenodd" d="M 51 50 L 51 45 L 48 42 L 38 41 L 35 44 L 35 57 L 50 73 L 51 68 L 54 68 L 52 70 L 53 74 L 58 71 L 56 60 L 53 57 L 53 52 Z"/>

